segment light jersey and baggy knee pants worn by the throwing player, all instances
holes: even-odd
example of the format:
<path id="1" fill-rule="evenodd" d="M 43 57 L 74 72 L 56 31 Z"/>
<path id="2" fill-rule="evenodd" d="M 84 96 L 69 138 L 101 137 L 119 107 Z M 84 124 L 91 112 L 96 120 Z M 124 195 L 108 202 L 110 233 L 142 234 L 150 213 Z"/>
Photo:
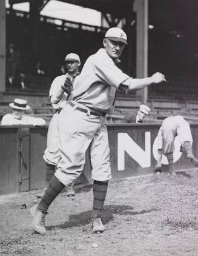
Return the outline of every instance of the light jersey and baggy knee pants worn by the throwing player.
<path id="1" fill-rule="evenodd" d="M 65 186 L 81 174 L 90 144 L 93 180 L 110 180 L 105 115 L 113 110 L 119 84 L 128 78 L 105 49 L 100 49 L 85 62 L 79 79 L 74 81 L 73 100 L 64 106 L 58 117 L 61 160 L 55 176 Z"/>

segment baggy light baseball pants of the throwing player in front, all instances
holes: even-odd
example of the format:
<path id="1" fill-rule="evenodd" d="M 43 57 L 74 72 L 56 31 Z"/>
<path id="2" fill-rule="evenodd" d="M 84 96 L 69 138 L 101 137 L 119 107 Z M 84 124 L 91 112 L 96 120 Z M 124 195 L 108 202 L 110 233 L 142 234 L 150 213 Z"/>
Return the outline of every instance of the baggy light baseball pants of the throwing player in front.
<path id="1" fill-rule="evenodd" d="M 111 179 L 110 148 L 106 117 L 90 115 L 67 105 L 58 116 L 59 153 L 61 160 L 55 176 L 65 186 L 81 175 L 85 164 L 85 152 L 90 146 L 91 177 L 97 181 Z M 87 109 L 78 104 L 78 107 Z"/>

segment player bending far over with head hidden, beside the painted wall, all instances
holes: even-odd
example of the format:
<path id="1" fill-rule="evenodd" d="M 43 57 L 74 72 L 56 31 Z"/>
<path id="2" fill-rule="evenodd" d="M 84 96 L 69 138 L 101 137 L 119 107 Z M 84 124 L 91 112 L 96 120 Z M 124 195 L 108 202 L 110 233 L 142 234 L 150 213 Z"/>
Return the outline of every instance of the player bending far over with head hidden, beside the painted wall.
<path id="1" fill-rule="evenodd" d="M 167 157 L 168 169 L 170 173 L 174 173 L 173 152 L 174 138 L 178 136 L 182 144 L 181 149 L 184 149 L 188 160 L 192 161 L 194 166 L 198 167 L 198 160 L 194 157 L 192 151 L 193 138 L 190 125 L 180 115 L 173 115 L 163 120 L 162 126 L 159 129 L 157 140 L 157 164 L 154 168 L 155 172 L 162 172 L 162 154 Z"/>

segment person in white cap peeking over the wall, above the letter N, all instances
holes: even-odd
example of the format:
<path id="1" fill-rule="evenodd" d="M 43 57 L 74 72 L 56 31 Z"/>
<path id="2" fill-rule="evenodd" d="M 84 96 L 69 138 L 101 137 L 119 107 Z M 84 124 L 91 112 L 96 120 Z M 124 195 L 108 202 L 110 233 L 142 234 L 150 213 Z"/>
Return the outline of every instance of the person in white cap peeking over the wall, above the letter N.
<path id="1" fill-rule="evenodd" d="M 139 106 L 139 110 L 137 111 L 137 113 L 134 115 L 125 115 L 124 120 L 122 120 L 122 123 L 143 123 L 144 119 L 148 116 L 150 110 L 150 107 L 148 107 L 145 104 L 141 104 Z"/>

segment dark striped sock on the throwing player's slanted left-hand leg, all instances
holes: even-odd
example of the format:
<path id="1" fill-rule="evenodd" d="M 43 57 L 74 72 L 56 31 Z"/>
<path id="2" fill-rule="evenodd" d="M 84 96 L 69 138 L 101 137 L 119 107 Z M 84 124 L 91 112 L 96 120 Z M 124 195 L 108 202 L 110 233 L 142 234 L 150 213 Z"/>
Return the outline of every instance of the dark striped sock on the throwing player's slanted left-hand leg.
<path id="1" fill-rule="evenodd" d="M 50 204 L 61 193 L 64 187 L 64 184 L 62 184 L 55 176 L 53 176 L 50 180 L 50 183 L 48 184 L 44 196 L 38 204 L 38 209 L 47 212 Z"/>

